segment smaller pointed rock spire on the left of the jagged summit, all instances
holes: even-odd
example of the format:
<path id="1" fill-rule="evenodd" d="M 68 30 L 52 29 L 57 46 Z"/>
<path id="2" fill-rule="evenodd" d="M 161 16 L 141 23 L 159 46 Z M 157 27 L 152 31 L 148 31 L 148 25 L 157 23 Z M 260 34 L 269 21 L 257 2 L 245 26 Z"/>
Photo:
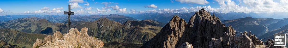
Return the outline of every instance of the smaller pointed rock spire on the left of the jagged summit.
<path id="1" fill-rule="evenodd" d="M 142 48 L 174 48 L 181 38 L 186 24 L 184 19 L 174 16 L 155 37 L 143 44 Z"/>

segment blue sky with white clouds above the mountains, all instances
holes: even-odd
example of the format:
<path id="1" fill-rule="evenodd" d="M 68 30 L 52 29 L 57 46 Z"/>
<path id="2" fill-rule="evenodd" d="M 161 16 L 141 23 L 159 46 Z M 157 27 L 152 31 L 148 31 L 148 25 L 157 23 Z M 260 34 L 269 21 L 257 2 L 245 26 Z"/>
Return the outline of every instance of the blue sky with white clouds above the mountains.
<path id="1" fill-rule="evenodd" d="M 62 15 L 63 11 L 68 10 L 68 4 L 75 5 L 72 9 L 75 14 L 91 15 L 182 13 L 195 12 L 201 8 L 220 13 L 229 11 L 272 13 L 288 11 L 288 7 L 285 7 L 287 2 L 287 0 L 0 0 L 0 15 Z"/>

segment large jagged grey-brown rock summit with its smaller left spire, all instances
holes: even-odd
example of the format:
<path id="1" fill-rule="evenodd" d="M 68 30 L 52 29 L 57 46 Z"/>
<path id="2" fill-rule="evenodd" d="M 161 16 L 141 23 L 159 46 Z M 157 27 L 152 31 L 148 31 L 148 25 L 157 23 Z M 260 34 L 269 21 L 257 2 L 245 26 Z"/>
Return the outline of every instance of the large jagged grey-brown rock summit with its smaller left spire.
<path id="1" fill-rule="evenodd" d="M 191 44 L 191 45 L 190 45 Z M 232 26 L 225 26 L 219 18 L 201 9 L 188 23 L 174 16 L 155 37 L 142 48 L 257 48 L 266 47 L 249 32 L 236 32 Z"/>

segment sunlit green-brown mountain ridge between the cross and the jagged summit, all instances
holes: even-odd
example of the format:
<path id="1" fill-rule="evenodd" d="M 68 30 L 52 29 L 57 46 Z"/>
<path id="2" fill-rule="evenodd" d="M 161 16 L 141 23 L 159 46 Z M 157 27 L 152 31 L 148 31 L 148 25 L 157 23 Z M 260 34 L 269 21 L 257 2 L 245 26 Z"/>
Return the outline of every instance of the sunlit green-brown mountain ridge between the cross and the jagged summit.
<path id="1" fill-rule="evenodd" d="M 143 20 L 145 22 L 145 20 Z M 123 24 L 109 20 L 108 18 L 99 18 L 94 22 L 75 26 L 76 28 L 88 28 L 88 34 L 106 42 L 118 41 L 121 43 L 142 44 L 154 37 L 162 27 L 157 26 L 156 21 L 127 20 Z M 150 24 L 147 24 L 150 23 Z M 158 23 L 159 24 L 159 23 Z M 162 23 L 161 23 L 162 24 Z"/>

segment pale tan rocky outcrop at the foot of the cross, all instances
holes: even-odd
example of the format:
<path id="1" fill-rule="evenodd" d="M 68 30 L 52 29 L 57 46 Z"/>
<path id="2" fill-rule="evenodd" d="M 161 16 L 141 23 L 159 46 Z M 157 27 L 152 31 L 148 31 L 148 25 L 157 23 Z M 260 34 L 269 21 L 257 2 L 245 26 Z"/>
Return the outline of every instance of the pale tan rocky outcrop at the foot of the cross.
<path id="1" fill-rule="evenodd" d="M 48 35 L 43 40 L 37 39 L 33 48 L 102 48 L 104 43 L 87 34 L 88 28 L 82 28 L 79 32 L 77 28 L 71 28 L 69 33 L 61 34 L 56 31 L 53 35 Z"/>

